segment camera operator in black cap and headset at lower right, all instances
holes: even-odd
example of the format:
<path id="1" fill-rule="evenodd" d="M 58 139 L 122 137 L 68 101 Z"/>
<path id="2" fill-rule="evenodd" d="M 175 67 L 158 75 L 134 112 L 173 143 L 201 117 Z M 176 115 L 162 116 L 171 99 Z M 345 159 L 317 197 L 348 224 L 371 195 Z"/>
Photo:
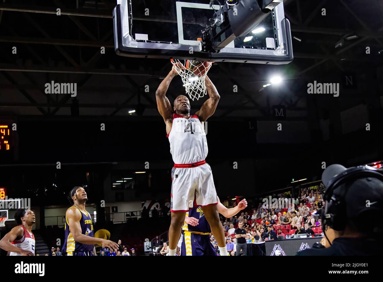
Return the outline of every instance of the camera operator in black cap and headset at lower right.
<path id="1" fill-rule="evenodd" d="M 383 209 L 383 172 L 371 167 L 345 168 L 330 165 L 322 173 L 326 185 L 321 244 L 298 252 L 298 256 L 370 256 L 381 255 L 381 224 L 376 218 Z M 362 228 L 360 228 L 362 226 Z"/>

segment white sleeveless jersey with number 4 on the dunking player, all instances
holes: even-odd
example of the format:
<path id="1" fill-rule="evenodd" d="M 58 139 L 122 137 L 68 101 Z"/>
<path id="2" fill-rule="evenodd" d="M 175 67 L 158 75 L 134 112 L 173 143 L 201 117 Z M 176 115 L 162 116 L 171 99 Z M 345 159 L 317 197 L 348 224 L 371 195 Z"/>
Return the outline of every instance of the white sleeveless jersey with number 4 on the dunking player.
<path id="1" fill-rule="evenodd" d="M 208 155 L 205 129 L 197 115 L 185 119 L 182 115 L 173 114 L 172 129 L 167 137 L 174 163 L 196 163 Z"/>

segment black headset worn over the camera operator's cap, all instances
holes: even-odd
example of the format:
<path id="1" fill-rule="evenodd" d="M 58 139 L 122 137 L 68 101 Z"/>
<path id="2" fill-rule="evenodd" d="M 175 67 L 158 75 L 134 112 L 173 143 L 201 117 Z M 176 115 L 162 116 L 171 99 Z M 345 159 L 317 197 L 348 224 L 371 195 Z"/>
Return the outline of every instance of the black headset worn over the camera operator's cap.
<path id="1" fill-rule="evenodd" d="M 340 185 L 355 181 L 360 178 L 378 178 L 383 181 L 383 171 L 376 168 L 360 166 L 347 168 L 343 172 L 335 175 L 327 184 L 326 191 L 324 192 L 324 211 L 322 211 L 322 226 L 329 226 L 334 230 L 344 230 L 347 221 L 345 195 L 347 194 L 349 185 L 343 186 L 340 193 L 334 194 L 334 190 Z"/>

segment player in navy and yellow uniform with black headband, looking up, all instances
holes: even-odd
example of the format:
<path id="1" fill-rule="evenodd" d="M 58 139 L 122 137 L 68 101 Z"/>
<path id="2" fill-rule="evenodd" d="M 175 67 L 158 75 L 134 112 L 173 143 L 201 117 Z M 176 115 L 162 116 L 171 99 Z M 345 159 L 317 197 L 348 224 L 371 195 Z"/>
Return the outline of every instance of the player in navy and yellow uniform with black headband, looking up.
<path id="1" fill-rule="evenodd" d="M 95 244 L 108 247 L 117 253 L 117 243 L 94 237 L 92 218 L 85 209 L 85 203 L 88 201 L 85 189 L 75 186 L 70 190 L 68 198 L 73 206 L 65 213 L 65 242 L 62 255 L 96 256 Z"/>

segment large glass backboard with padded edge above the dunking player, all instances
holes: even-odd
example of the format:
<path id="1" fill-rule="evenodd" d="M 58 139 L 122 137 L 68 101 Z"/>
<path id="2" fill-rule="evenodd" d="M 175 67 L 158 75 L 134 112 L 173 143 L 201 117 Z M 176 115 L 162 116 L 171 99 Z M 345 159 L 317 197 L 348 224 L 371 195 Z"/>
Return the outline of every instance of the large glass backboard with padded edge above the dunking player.
<path id="1" fill-rule="evenodd" d="M 136 58 L 215 62 L 288 64 L 293 60 L 283 3 L 247 35 L 236 37 L 216 53 L 201 51 L 197 39 L 219 10 L 219 2 L 224 5 L 226 0 L 214 0 L 212 7 L 210 0 L 117 0 L 115 51 Z"/>

